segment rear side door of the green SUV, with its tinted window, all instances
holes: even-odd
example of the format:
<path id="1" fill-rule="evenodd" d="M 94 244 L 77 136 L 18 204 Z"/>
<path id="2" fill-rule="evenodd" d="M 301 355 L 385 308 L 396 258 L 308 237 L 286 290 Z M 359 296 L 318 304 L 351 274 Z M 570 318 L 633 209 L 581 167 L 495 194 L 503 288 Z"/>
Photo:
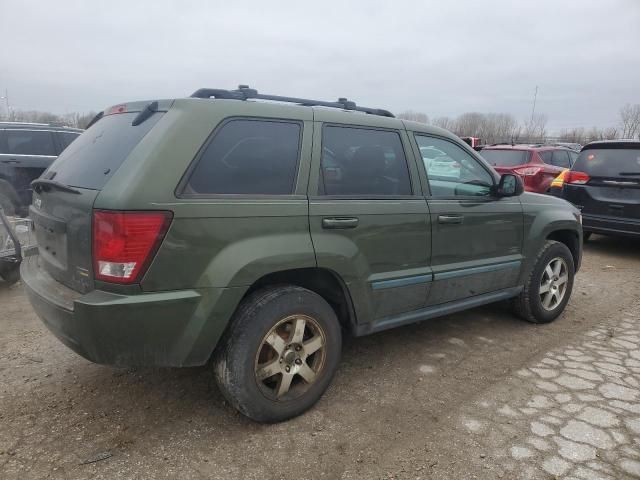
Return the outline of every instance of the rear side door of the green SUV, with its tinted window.
<path id="1" fill-rule="evenodd" d="M 427 203 L 404 129 L 373 116 L 362 126 L 328 120 L 315 124 L 309 191 L 317 263 L 346 282 L 360 325 L 383 328 L 425 303 Z"/>

